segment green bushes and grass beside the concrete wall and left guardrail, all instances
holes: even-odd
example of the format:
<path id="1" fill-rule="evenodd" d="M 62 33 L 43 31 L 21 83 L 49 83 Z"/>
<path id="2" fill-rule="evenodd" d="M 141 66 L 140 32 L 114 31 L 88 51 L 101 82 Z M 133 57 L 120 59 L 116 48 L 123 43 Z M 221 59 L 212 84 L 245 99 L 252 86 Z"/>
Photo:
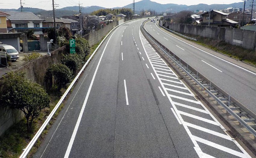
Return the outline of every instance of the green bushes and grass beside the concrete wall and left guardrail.
<path id="1" fill-rule="evenodd" d="M 53 38 L 53 33 L 52 29 L 48 30 L 49 38 Z M 57 31 L 57 35 L 56 47 L 66 46 L 66 49 L 60 63 L 54 64 L 47 69 L 44 77 L 45 87 L 26 79 L 26 74 L 19 71 L 9 72 L 0 80 L 0 106 L 19 109 L 23 111 L 25 116 L 0 137 L 0 158 L 17 158 L 20 156 L 22 149 L 27 146 L 67 89 L 68 83 L 73 80 L 82 68 L 83 63 L 91 56 L 91 52 L 100 43 L 90 48 L 86 39 L 76 36 L 76 53 L 70 54 L 68 44 L 71 38 L 70 31 L 60 28 Z M 25 56 L 24 61 L 36 62 L 39 57 L 39 54 L 32 53 Z M 72 90 L 70 90 L 70 93 L 72 93 Z M 65 101 L 59 107 L 27 157 L 32 157 L 36 152 L 44 135 L 47 134 L 59 111 L 63 108 Z"/>

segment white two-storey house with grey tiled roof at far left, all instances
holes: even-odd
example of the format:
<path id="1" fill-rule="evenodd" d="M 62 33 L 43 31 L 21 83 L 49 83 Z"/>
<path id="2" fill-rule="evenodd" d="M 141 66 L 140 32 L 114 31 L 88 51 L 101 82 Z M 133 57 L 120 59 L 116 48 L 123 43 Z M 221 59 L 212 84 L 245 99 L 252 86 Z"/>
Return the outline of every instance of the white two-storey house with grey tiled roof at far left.
<path id="1" fill-rule="evenodd" d="M 7 17 L 8 32 L 24 32 L 33 29 L 35 34 L 42 34 L 42 22 L 44 19 L 37 17 L 32 12 L 2 11 L 9 14 Z"/>

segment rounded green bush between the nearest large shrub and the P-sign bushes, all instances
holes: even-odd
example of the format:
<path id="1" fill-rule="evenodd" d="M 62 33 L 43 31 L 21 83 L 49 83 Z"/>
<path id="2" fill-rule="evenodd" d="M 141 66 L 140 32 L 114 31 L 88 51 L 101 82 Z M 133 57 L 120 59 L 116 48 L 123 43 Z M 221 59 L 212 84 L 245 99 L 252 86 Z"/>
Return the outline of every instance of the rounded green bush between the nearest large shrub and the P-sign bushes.
<path id="1" fill-rule="evenodd" d="M 46 70 L 45 81 L 52 87 L 52 77 L 56 80 L 57 90 L 61 90 L 72 78 L 70 69 L 63 64 L 54 64 Z"/>

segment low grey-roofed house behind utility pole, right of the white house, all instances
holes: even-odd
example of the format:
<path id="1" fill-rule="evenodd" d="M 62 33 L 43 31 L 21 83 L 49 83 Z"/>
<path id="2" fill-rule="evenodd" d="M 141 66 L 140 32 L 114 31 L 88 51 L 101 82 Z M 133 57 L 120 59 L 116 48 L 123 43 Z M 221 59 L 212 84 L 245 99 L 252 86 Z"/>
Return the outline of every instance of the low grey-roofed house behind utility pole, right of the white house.
<path id="1" fill-rule="evenodd" d="M 55 18 L 55 24 L 57 28 L 62 26 L 70 29 L 71 22 Z M 53 18 L 52 17 L 45 18 L 45 21 L 43 22 L 43 27 L 54 27 Z"/>

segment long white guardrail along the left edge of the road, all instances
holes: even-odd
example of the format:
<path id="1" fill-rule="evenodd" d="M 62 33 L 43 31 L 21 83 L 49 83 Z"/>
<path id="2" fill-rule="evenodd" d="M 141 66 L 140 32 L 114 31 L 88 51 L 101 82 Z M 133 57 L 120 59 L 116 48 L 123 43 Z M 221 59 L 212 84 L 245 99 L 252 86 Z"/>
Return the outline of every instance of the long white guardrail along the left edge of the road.
<path id="1" fill-rule="evenodd" d="M 145 18 L 141 18 L 141 19 L 145 19 Z M 139 20 L 139 19 L 134 19 L 134 20 Z M 130 21 L 134 21 L 134 20 L 130 20 Z M 127 22 L 130 22 L 127 21 Z M 125 23 L 127 23 L 125 22 Z M 30 143 L 27 145 L 27 147 L 24 149 L 23 153 L 20 155 L 19 158 L 26 158 L 26 156 L 28 155 L 28 153 L 30 152 L 30 150 L 32 149 L 32 147 L 34 146 L 34 144 L 36 143 L 37 139 L 39 138 L 39 136 L 42 134 L 43 130 L 45 129 L 45 127 L 48 125 L 48 123 L 50 122 L 50 120 L 52 119 L 53 115 L 55 114 L 55 112 L 57 111 L 57 109 L 59 108 L 59 106 L 61 105 L 61 103 L 63 102 L 63 100 L 65 99 L 65 97 L 67 96 L 67 94 L 69 93 L 69 91 L 71 90 L 71 88 L 73 87 L 73 85 L 75 84 L 75 82 L 77 81 L 78 77 L 80 76 L 80 74 L 83 72 L 83 70 L 85 69 L 85 67 L 87 66 L 87 64 L 90 62 L 90 60 L 92 59 L 92 57 L 94 56 L 94 54 L 97 52 L 98 48 L 101 46 L 101 44 L 105 41 L 106 38 L 108 38 L 108 35 L 111 34 L 111 32 L 113 32 L 114 29 L 116 29 L 117 27 L 125 24 L 122 23 L 120 25 L 117 25 L 116 27 L 114 27 L 106 36 L 105 38 L 101 41 L 101 43 L 98 45 L 98 47 L 95 49 L 95 51 L 92 53 L 92 55 L 90 56 L 90 58 L 87 60 L 87 62 L 83 65 L 82 69 L 79 71 L 79 73 L 76 75 L 76 77 L 74 78 L 74 80 L 71 82 L 70 86 L 67 88 L 67 90 L 65 91 L 65 93 L 63 94 L 63 96 L 61 96 L 61 99 L 59 100 L 59 102 L 56 104 L 56 106 L 54 107 L 54 109 L 52 110 L 52 112 L 49 114 L 49 116 L 46 118 L 45 122 L 42 124 L 42 126 L 40 127 L 40 129 L 36 132 L 36 135 L 32 138 L 32 140 L 30 141 Z"/>

